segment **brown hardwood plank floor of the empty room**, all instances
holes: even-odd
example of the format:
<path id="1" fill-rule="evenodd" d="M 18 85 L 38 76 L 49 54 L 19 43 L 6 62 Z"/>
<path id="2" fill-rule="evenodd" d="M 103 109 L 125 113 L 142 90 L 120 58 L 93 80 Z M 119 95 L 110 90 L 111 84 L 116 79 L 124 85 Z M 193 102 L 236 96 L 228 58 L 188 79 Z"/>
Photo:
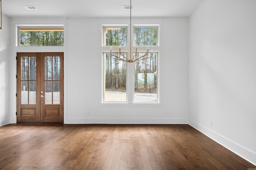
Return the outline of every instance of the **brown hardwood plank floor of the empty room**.
<path id="1" fill-rule="evenodd" d="M 0 127 L 0 169 L 256 168 L 189 125 L 12 124 Z"/>

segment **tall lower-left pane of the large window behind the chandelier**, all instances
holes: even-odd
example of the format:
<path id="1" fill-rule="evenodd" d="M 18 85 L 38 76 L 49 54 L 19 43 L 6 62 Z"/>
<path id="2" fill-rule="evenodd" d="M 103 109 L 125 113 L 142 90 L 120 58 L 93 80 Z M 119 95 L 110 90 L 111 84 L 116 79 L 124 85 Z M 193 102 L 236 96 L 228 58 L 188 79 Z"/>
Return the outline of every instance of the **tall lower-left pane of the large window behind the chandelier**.
<path id="1" fill-rule="evenodd" d="M 113 55 L 119 56 L 118 53 Z M 126 53 L 123 53 L 126 56 Z M 110 57 L 110 53 L 104 53 L 105 57 L 105 86 L 104 102 L 126 102 L 126 62 Z"/>

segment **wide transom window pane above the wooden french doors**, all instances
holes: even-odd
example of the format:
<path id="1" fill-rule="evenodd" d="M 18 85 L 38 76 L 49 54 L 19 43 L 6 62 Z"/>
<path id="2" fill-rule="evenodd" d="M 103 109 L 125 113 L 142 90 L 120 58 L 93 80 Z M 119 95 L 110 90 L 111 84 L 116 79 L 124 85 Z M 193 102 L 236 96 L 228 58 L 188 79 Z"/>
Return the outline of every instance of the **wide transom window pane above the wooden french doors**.
<path id="1" fill-rule="evenodd" d="M 63 28 L 19 28 L 19 46 L 64 46 Z"/>

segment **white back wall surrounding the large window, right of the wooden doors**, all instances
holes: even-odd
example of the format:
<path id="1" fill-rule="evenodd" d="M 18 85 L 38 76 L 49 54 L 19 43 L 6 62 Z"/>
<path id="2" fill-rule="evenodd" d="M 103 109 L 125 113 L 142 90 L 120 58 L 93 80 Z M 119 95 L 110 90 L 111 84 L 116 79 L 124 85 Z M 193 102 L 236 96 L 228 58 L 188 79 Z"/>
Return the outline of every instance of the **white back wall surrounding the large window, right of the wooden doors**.
<path id="1" fill-rule="evenodd" d="M 188 18 L 165 18 L 161 26 L 162 103 L 107 106 L 100 104 L 99 20 L 68 18 L 65 123 L 188 123 Z"/>

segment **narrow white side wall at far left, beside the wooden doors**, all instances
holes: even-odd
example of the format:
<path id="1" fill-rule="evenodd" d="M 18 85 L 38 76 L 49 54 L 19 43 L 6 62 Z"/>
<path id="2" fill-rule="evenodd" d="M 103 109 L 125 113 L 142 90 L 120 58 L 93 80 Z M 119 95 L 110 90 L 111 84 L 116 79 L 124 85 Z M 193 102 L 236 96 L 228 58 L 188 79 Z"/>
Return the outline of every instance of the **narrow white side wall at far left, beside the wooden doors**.
<path id="1" fill-rule="evenodd" d="M 10 123 L 10 18 L 2 15 L 0 29 L 0 126 Z"/>

